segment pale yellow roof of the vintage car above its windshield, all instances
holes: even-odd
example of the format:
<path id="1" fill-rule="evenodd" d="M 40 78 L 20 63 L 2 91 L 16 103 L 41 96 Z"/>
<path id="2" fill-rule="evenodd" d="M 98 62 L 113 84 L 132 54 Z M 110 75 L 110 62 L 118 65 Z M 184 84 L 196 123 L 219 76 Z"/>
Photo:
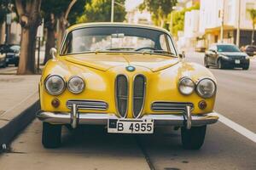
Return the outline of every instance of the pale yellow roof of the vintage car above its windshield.
<path id="1" fill-rule="evenodd" d="M 123 23 L 123 22 L 92 22 L 92 23 L 76 24 L 76 25 L 68 27 L 67 32 L 73 31 L 73 30 L 76 30 L 79 28 L 93 27 L 93 26 L 128 26 L 128 27 L 145 28 L 145 29 L 151 29 L 151 30 L 156 30 L 156 31 L 163 31 L 163 32 L 166 32 L 167 34 L 170 34 L 170 32 L 167 31 L 166 29 L 163 29 L 163 28 L 160 28 L 157 26 L 128 24 L 128 23 Z"/>

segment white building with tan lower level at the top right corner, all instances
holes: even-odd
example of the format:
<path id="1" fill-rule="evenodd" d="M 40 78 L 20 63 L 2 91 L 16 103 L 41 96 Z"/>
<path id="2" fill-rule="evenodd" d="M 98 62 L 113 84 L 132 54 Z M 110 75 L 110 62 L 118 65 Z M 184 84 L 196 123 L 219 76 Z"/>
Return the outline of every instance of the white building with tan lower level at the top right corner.
<path id="1" fill-rule="evenodd" d="M 199 31 L 206 33 L 207 45 L 220 41 L 220 28 L 223 19 L 224 42 L 236 43 L 239 17 L 241 29 L 240 45 L 249 44 L 253 29 L 252 20 L 248 12 L 248 9 L 251 8 L 256 8 L 256 0 L 201 0 Z"/>

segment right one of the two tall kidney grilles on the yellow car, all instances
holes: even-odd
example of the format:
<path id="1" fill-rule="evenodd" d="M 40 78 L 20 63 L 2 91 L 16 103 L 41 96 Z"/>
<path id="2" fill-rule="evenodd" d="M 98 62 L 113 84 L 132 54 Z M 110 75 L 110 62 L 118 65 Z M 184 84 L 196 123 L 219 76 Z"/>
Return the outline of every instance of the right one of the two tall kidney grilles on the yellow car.
<path id="1" fill-rule="evenodd" d="M 146 78 L 143 75 L 137 75 L 133 81 L 132 111 L 133 117 L 137 118 L 143 111 L 145 99 Z"/>

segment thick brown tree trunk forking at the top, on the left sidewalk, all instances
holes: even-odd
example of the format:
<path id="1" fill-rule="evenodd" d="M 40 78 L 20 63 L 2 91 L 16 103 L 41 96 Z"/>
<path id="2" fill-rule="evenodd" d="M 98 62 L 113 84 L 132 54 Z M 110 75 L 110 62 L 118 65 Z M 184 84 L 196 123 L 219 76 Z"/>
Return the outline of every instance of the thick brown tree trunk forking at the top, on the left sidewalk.
<path id="1" fill-rule="evenodd" d="M 41 0 L 15 0 L 15 7 L 21 26 L 20 64 L 17 74 L 34 74 L 36 36 L 41 23 Z"/>

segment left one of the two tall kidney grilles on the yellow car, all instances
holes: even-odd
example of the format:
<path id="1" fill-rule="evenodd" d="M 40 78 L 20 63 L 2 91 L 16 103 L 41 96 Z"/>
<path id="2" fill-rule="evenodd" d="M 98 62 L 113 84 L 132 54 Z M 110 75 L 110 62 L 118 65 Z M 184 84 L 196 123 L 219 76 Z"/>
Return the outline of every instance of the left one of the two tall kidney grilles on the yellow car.
<path id="1" fill-rule="evenodd" d="M 119 75 L 115 80 L 115 99 L 119 115 L 125 117 L 128 110 L 128 79 L 125 75 Z"/>

